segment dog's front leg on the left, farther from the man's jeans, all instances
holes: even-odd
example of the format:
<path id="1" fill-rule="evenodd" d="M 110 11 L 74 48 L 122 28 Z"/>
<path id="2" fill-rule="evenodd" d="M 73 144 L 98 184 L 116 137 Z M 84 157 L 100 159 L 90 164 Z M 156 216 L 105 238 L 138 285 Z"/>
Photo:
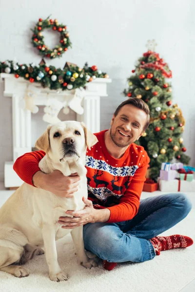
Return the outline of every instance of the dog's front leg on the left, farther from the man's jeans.
<path id="1" fill-rule="evenodd" d="M 42 236 L 50 279 L 57 282 L 68 280 L 67 275 L 61 270 L 58 263 L 55 225 L 44 224 L 42 227 Z"/>

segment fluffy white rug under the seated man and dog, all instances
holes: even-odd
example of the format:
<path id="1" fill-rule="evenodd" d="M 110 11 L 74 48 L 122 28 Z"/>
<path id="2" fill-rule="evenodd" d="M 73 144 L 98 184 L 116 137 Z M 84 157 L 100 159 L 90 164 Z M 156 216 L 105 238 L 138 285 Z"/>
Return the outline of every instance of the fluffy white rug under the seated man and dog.
<path id="1" fill-rule="evenodd" d="M 190 196 L 195 202 L 195 194 Z M 183 234 L 195 241 L 195 207 L 186 219 L 163 235 L 171 234 Z M 69 274 L 68 281 L 50 281 L 45 257 L 41 255 L 24 265 L 30 272 L 28 277 L 0 272 L 0 292 L 179 292 L 195 278 L 195 244 L 161 252 L 144 263 L 118 264 L 113 271 L 106 271 L 101 265 L 91 270 L 80 266 L 69 235 L 57 245 L 59 265 Z"/>

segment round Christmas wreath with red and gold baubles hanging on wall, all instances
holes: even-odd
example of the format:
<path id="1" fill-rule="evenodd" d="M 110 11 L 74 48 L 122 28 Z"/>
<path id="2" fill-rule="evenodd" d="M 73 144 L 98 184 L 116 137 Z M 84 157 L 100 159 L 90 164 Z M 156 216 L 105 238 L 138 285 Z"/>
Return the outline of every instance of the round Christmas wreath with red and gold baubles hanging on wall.
<path id="1" fill-rule="evenodd" d="M 44 43 L 44 37 L 42 36 L 42 31 L 44 29 L 52 28 L 53 31 L 59 32 L 59 45 L 56 45 L 54 49 L 49 49 Z M 69 39 L 69 33 L 67 31 L 66 25 L 59 24 L 57 19 L 45 19 L 39 18 L 35 28 L 32 30 L 32 43 L 33 46 L 39 50 L 39 54 L 53 59 L 55 57 L 60 57 L 64 52 L 71 47 L 71 42 Z"/>

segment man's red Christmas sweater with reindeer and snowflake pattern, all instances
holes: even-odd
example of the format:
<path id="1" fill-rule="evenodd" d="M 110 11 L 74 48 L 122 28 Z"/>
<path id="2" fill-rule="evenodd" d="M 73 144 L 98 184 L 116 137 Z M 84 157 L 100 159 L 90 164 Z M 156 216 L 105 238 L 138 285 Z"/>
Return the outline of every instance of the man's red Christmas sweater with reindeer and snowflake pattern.
<path id="1" fill-rule="evenodd" d="M 120 159 L 113 158 L 105 146 L 104 133 L 96 133 L 98 143 L 87 149 L 86 168 L 88 199 L 94 208 L 108 208 L 107 222 L 130 220 L 137 214 L 139 199 L 150 161 L 142 146 L 132 143 Z M 14 170 L 25 182 L 33 185 L 32 177 L 39 171 L 39 161 L 45 152 L 35 151 L 19 157 Z"/>

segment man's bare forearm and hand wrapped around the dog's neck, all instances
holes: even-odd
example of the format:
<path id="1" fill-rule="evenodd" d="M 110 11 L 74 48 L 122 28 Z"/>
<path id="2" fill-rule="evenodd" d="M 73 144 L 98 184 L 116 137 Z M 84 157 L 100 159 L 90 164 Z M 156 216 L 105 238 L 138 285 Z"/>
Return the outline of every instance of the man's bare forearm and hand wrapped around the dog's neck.
<path id="1" fill-rule="evenodd" d="M 77 173 L 65 177 L 59 170 L 45 174 L 38 171 L 33 176 L 33 184 L 62 198 L 72 198 L 78 191 L 80 177 Z"/>

